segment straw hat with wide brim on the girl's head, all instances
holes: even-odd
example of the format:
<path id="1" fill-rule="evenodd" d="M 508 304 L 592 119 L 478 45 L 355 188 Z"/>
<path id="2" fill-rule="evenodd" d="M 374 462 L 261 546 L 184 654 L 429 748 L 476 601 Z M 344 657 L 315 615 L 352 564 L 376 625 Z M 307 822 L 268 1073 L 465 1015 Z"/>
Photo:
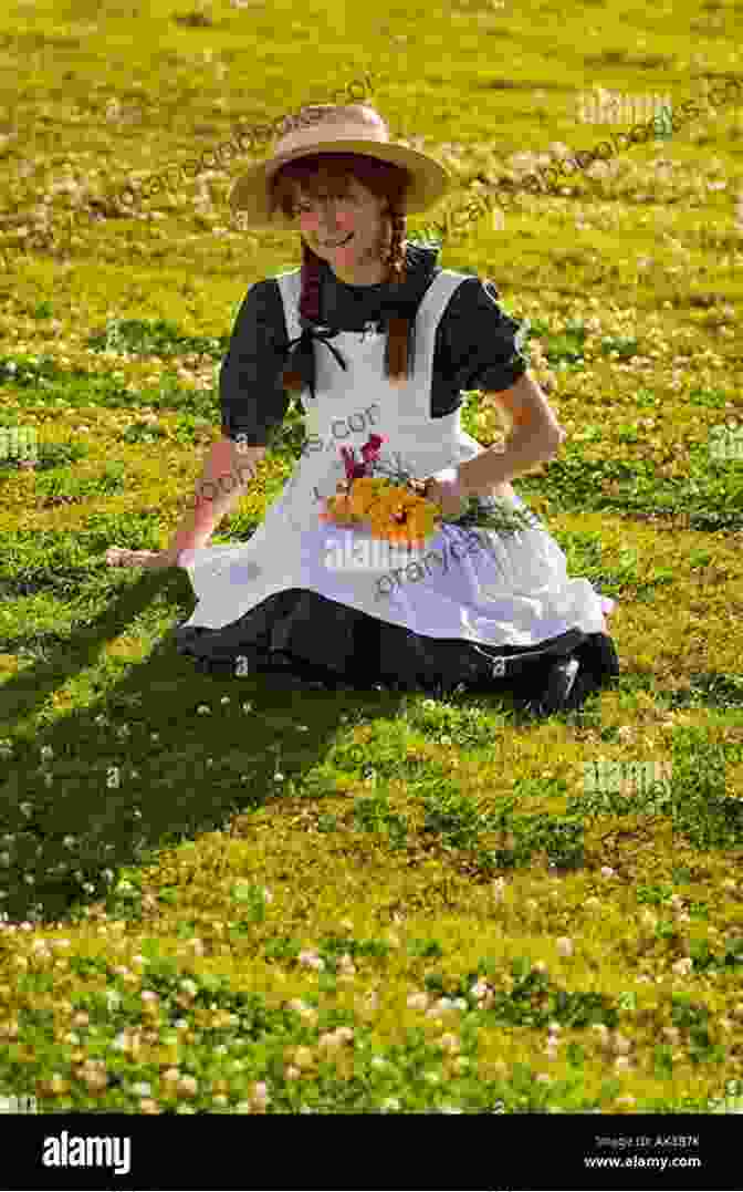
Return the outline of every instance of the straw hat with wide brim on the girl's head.
<path id="1" fill-rule="evenodd" d="M 449 190 L 444 167 L 416 149 L 391 142 L 387 124 L 373 107 L 326 104 L 305 108 L 300 116 L 313 126 L 293 128 L 281 137 L 274 156 L 249 169 L 232 188 L 230 206 L 245 212 L 251 228 L 294 229 L 280 210 L 269 217 L 269 185 L 287 162 L 317 153 L 357 153 L 401 166 L 410 174 L 402 200 L 407 215 L 427 210 Z"/>

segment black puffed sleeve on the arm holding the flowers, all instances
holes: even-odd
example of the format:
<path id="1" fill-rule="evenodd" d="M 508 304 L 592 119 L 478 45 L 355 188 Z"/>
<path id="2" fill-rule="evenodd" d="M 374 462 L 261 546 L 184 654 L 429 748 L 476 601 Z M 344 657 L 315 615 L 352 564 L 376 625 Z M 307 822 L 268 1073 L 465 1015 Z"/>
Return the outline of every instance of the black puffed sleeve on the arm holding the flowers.
<path id="1" fill-rule="evenodd" d="M 506 315 L 499 297 L 492 281 L 468 278 L 444 311 L 437 356 L 455 391 L 500 392 L 529 368 L 529 321 Z"/>

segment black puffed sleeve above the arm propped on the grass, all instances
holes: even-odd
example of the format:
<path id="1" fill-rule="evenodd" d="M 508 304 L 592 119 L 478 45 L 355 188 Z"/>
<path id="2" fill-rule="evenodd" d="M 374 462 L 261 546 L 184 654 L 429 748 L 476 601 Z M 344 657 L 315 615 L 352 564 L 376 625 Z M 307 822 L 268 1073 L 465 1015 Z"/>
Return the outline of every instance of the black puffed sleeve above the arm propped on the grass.
<path id="1" fill-rule="evenodd" d="M 243 435 L 249 447 L 267 447 L 289 406 L 281 385 L 287 333 L 281 292 L 274 278 L 250 287 L 219 372 L 221 433 Z"/>

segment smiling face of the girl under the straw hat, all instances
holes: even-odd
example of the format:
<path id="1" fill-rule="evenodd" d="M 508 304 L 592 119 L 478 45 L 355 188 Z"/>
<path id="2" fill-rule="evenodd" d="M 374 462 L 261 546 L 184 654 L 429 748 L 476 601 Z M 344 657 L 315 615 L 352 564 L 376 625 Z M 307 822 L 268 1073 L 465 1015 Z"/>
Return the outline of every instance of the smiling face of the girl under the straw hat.
<path id="1" fill-rule="evenodd" d="M 312 252 L 341 281 L 376 285 L 387 274 L 382 261 L 391 231 L 387 200 L 377 199 L 350 175 L 343 190 L 341 197 L 325 190 L 313 198 L 296 184 L 295 219 Z"/>

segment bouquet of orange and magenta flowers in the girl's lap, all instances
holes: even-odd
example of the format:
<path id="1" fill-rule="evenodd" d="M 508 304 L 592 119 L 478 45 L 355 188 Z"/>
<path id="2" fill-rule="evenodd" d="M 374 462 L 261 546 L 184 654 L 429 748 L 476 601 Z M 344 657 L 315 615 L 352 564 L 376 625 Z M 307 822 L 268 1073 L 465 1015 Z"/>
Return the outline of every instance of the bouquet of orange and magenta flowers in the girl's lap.
<path id="1" fill-rule="evenodd" d="M 342 447 L 345 464 L 345 480 L 337 486 L 337 496 L 329 497 L 320 521 L 342 526 L 370 526 L 373 538 L 395 545 L 424 547 L 426 540 L 444 524 L 441 509 L 426 498 L 426 483 L 410 473 L 398 471 L 391 478 L 375 476 L 375 466 L 386 435 L 372 435 L 361 448 L 362 462 L 356 462 L 354 452 Z M 493 504 L 497 508 L 493 508 Z M 477 526 L 499 534 L 516 534 L 533 526 L 530 514 L 520 509 L 505 508 L 497 498 L 487 504 L 480 497 L 463 502 L 463 511 L 456 521 L 445 524 L 468 529 Z"/>

